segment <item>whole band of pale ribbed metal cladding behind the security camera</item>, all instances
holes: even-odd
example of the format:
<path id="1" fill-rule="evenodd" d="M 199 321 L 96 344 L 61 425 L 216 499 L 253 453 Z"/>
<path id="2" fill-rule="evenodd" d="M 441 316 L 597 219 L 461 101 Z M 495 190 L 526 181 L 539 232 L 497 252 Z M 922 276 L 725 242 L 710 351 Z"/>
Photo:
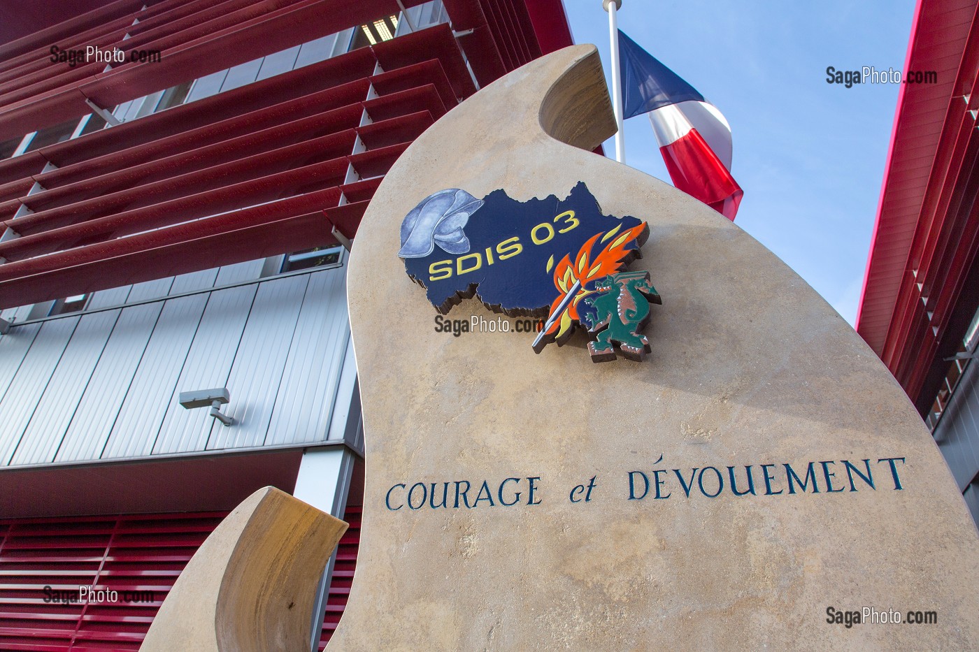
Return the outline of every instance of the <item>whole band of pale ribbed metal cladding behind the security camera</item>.
<path id="1" fill-rule="evenodd" d="M 345 274 L 16 326 L 0 337 L 0 453 L 23 465 L 324 441 L 350 340 Z M 231 428 L 178 403 L 216 387 L 231 391 Z"/>

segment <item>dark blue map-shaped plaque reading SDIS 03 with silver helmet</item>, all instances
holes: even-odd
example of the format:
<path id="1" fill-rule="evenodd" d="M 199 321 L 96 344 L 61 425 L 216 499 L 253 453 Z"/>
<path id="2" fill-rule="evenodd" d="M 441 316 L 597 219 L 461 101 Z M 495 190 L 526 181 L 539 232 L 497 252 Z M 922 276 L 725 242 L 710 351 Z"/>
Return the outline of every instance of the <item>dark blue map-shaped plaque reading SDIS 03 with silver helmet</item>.
<path id="1" fill-rule="evenodd" d="M 583 182 L 564 200 L 549 195 L 527 202 L 503 190 L 478 200 L 452 188 L 408 213 L 399 254 L 408 275 L 443 314 L 477 295 L 497 312 L 544 317 L 560 295 L 552 270 L 562 258 L 575 260 L 596 234 L 642 224 L 629 215 L 604 214 Z M 622 247 L 629 257 L 638 254 L 645 233 Z"/>

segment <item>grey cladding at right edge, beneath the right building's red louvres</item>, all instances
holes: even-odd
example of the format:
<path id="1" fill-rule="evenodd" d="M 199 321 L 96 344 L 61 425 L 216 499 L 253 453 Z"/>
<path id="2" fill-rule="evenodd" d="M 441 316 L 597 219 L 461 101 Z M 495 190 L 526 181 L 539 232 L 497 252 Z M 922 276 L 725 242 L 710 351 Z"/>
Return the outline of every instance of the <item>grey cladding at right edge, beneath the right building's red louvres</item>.
<path id="1" fill-rule="evenodd" d="M 935 439 L 963 490 L 979 474 L 979 362 L 958 382 L 952 402 L 935 429 Z"/>

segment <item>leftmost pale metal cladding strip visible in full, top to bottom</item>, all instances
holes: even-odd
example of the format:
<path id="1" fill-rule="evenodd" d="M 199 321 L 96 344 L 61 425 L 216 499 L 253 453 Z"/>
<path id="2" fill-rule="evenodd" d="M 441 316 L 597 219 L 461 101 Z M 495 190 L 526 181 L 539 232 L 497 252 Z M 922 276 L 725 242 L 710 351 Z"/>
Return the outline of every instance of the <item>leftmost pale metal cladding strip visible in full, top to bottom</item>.
<path id="1" fill-rule="evenodd" d="M 12 466 L 54 461 L 119 312 L 105 310 L 81 316 L 11 458 Z"/>

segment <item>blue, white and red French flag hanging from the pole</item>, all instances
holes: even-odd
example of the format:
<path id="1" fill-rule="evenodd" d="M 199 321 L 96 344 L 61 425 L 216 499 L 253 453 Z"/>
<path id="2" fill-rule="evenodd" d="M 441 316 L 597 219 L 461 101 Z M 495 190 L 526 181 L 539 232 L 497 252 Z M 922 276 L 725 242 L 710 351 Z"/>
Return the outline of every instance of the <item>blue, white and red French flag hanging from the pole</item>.
<path id="1" fill-rule="evenodd" d="M 718 109 L 619 30 L 623 119 L 649 114 L 677 189 L 734 221 L 744 191 L 731 176 L 731 128 Z"/>

